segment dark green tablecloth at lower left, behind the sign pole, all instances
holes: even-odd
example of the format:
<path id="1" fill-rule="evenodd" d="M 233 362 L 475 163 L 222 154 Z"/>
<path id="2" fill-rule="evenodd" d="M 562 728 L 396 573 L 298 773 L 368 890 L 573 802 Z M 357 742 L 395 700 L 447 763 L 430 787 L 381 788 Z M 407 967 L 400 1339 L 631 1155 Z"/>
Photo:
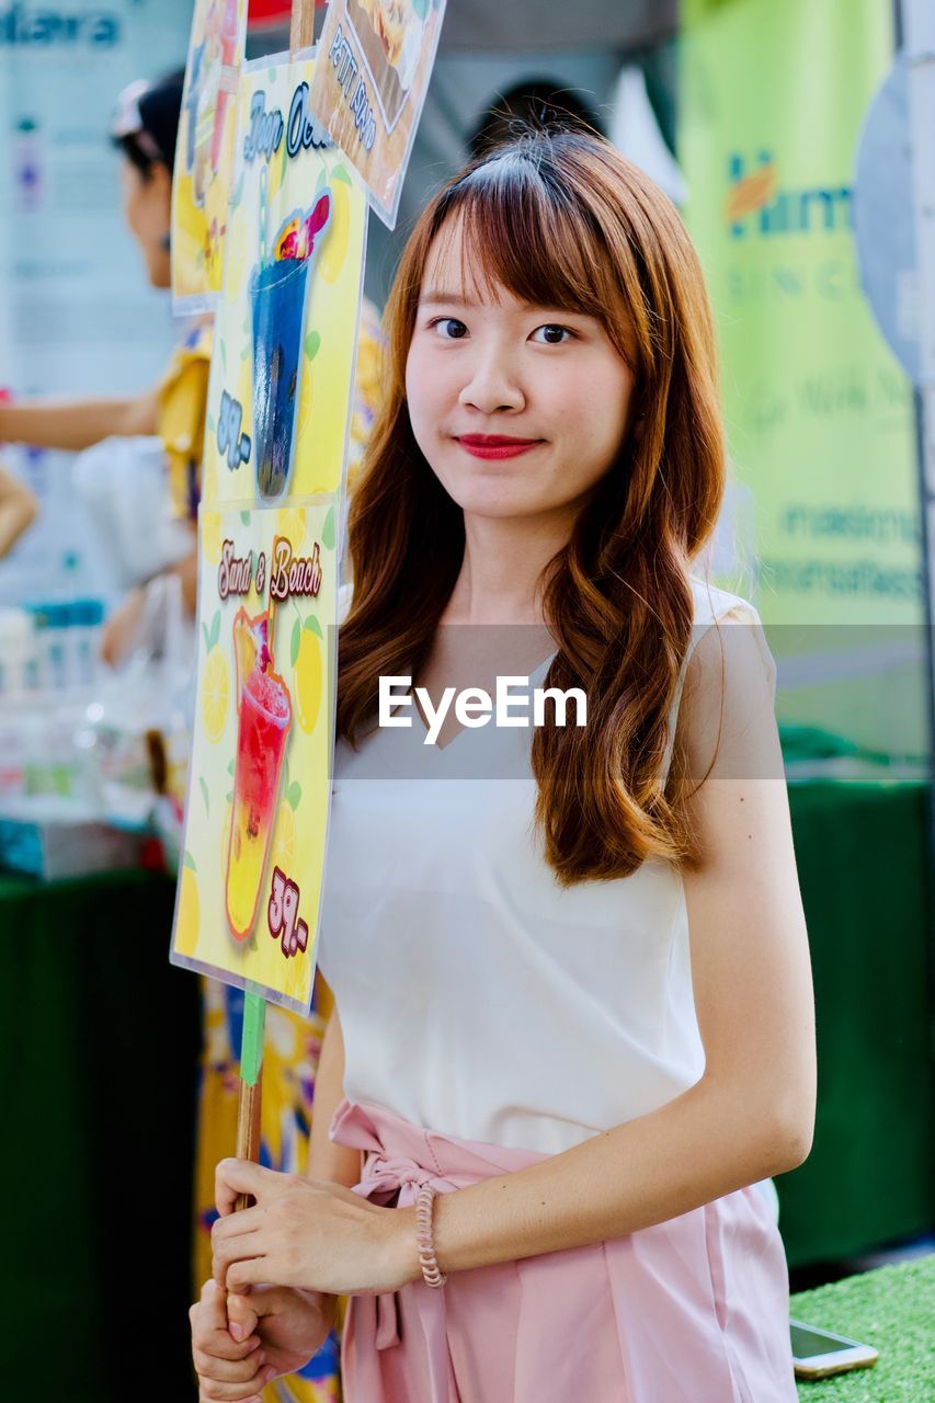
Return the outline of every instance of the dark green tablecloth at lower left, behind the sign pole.
<path id="1" fill-rule="evenodd" d="M 194 1397 L 199 995 L 173 899 L 143 873 L 0 875 L 6 1397 Z"/>

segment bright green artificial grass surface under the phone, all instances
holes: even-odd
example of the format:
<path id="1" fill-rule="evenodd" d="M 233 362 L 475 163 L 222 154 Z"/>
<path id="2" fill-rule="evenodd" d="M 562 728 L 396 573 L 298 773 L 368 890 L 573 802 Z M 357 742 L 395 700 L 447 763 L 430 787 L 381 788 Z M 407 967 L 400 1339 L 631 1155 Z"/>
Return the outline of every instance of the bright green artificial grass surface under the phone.
<path id="1" fill-rule="evenodd" d="M 800 1291 L 789 1313 L 880 1352 L 870 1369 L 799 1379 L 800 1403 L 935 1403 L 935 1253 Z"/>

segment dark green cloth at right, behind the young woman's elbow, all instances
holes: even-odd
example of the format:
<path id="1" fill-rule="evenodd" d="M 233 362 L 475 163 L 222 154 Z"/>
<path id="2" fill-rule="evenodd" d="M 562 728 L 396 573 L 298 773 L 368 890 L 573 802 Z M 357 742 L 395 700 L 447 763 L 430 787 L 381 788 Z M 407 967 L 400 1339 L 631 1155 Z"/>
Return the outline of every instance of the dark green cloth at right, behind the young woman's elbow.
<path id="1" fill-rule="evenodd" d="M 935 1223 L 935 1078 L 922 784 L 789 790 L 814 975 L 811 1155 L 776 1181 L 792 1267 Z"/>

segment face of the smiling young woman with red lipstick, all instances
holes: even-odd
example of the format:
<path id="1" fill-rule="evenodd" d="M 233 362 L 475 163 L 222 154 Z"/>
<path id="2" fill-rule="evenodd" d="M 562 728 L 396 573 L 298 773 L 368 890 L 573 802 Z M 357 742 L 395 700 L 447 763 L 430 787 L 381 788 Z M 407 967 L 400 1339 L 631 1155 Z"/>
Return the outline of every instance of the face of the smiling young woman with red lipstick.
<path id="1" fill-rule="evenodd" d="M 463 283 L 459 231 L 435 239 L 406 394 L 416 442 L 466 513 L 578 506 L 621 449 L 632 390 L 595 317 L 529 306 L 505 289 L 482 296 Z"/>

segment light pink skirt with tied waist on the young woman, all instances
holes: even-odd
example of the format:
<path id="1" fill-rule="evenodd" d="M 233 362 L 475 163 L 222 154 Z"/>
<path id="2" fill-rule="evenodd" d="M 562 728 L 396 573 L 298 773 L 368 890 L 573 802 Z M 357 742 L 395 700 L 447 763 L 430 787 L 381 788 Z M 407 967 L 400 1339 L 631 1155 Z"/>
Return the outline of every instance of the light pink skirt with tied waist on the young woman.
<path id="1" fill-rule="evenodd" d="M 357 1193 L 400 1208 L 546 1157 L 347 1100 L 329 1134 L 365 1152 Z M 782 1239 L 751 1186 L 592 1247 L 352 1296 L 341 1368 L 347 1403 L 796 1403 Z"/>

